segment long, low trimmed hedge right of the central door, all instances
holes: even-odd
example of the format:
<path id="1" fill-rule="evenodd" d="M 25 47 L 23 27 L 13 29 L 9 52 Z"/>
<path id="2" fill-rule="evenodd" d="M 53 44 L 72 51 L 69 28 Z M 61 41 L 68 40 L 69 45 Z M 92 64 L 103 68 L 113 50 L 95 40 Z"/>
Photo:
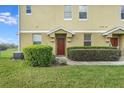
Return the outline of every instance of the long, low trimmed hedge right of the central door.
<path id="1" fill-rule="evenodd" d="M 117 61 L 121 51 L 113 47 L 70 47 L 68 58 L 74 61 Z"/>

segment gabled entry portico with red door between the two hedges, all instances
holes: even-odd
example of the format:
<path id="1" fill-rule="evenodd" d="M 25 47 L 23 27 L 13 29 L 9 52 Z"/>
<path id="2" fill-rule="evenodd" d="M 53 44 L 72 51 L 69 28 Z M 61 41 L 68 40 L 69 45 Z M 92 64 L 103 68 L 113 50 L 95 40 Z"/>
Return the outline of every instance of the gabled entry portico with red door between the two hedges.
<path id="1" fill-rule="evenodd" d="M 54 43 L 53 53 L 55 55 L 67 55 L 66 48 L 68 47 L 68 42 L 71 42 L 72 37 L 74 36 L 74 32 L 71 30 L 68 30 L 64 27 L 58 27 L 50 32 L 48 32 L 48 35 L 51 39 L 51 42 Z"/>

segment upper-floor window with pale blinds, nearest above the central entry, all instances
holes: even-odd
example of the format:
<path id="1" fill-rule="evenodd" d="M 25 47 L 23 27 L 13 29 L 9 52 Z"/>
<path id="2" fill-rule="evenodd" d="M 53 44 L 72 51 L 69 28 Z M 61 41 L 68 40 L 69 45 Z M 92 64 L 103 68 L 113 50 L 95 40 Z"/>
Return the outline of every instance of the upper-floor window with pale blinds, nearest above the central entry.
<path id="1" fill-rule="evenodd" d="M 72 6 L 71 5 L 65 5 L 64 6 L 64 19 L 65 20 L 71 20 L 72 19 Z"/>

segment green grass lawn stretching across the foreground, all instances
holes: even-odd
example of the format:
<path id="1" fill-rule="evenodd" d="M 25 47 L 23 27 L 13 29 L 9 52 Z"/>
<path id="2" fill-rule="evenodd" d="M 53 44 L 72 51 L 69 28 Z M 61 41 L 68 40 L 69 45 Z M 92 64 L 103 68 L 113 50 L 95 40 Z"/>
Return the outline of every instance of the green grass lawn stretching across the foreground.
<path id="1" fill-rule="evenodd" d="M 0 87 L 124 87 L 124 66 L 29 67 L 6 56 L 0 58 Z"/>

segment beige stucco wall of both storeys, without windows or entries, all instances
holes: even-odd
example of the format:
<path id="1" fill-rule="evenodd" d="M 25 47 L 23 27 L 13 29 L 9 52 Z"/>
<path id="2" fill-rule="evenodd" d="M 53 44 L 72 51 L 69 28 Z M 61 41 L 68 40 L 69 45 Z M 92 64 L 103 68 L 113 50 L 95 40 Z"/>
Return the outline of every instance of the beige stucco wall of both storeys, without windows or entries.
<path id="1" fill-rule="evenodd" d="M 54 37 L 49 37 L 47 33 L 42 31 L 50 31 L 56 27 L 62 26 L 70 31 L 80 31 L 75 33 L 73 37 L 66 38 L 66 47 L 83 46 L 84 31 L 101 31 L 109 30 L 117 26 L 123 26 L 124 21 L 120 19 L 120 5 L 89 5 L 88 19 L 79 20 L 78 5 L 72 6 L 72 20 L 64 20 L 63 5 L 33 5 L 31 15 L 26 14 L 26 6 L 20 6 L 20 33 L 23 31 L 41 31 L 42 44 L 48 44 L 53 47 L 53 53 L 56 50 L 56 41 Z M 81 32 L 82 31 L 82 32 Z M 60 31 L 63 33 L 62 31 Z M 59 33 L 60 33 L 59 32 Z M 58 32 L 56 32 L 58 33 Z M 65 33 L 65 32 L 64 32 Z M 92 46 L 109 46 L 105 37 L 101 33 L 92 33 Z M 124 51 L 124 36 L 120 37 L 121 49 Z M 21 49 L 32 45 L 32 33 L 20 34 Z M 123 54 L 124 55 L 124 54 Z"/>

